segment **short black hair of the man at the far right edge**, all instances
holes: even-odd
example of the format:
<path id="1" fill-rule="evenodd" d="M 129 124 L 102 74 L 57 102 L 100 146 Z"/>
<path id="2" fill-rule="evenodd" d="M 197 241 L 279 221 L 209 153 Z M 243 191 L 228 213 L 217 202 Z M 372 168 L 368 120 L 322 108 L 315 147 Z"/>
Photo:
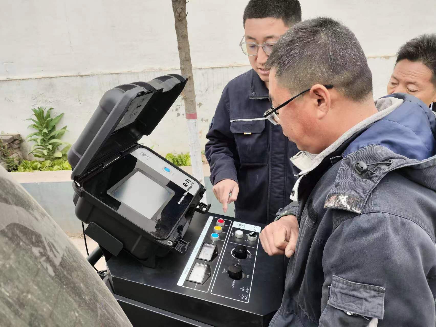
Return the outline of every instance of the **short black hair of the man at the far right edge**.
<path id="1" fill-rule="evenodd" d="M 436 34 L 422 34 L 400 47 L 395 65 L 400 60 L 419 61 L 433 73 L 432 82 L 436 87 Z"/>

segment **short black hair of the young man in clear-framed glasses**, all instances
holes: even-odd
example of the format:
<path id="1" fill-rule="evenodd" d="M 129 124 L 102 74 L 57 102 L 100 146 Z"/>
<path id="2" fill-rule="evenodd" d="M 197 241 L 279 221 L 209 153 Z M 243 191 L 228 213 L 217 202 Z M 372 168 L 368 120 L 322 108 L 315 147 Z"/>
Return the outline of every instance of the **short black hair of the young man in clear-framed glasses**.
<path id="1" fill-rule="evenodd" d="M 301 21 L 301 6 L 298 0 L 250 0 L 242 17 L 243 26 L 249 18 L 279 18 L 290 27 Z"/>

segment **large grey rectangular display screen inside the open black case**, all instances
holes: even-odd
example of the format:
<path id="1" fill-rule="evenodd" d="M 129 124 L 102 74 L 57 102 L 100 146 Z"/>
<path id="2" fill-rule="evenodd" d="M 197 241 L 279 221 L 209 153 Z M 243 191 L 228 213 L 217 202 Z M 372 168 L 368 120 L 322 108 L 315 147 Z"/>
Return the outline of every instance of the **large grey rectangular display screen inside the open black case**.
<path id="1" fill-rule="evenodd" d="M 141 171 L 136 171 L 120 185 L 109 189 L 108 193 L 148 219 L 174 194 Z"/>

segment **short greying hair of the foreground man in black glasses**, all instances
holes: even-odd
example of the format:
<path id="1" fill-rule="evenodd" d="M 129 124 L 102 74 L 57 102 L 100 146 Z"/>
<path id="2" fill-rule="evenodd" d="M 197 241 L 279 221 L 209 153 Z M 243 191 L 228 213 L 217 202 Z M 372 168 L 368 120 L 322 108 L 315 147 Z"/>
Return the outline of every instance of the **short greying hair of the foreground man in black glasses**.
<path id="1" fill-rule="evenodd" d="M 280 37 L 266 62 L 277 83 L 293 93 L 314 84 L 333 84 L 344 97 L 360 102 L 372 95 L 372 74 L 356 36 L 328 17 L 295 24 Z"/>

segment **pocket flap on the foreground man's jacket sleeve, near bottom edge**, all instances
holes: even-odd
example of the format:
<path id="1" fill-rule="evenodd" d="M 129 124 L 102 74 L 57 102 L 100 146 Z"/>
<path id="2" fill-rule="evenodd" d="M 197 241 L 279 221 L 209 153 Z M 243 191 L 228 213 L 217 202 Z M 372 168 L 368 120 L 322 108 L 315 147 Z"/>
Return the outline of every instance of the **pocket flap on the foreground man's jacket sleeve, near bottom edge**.
<path id="1" fill-rule="evenodd" d="M 385 288 L 354 283 L 333 276 L 328 304 L 345 312 L 383 319 L 385 313 Z"/>

